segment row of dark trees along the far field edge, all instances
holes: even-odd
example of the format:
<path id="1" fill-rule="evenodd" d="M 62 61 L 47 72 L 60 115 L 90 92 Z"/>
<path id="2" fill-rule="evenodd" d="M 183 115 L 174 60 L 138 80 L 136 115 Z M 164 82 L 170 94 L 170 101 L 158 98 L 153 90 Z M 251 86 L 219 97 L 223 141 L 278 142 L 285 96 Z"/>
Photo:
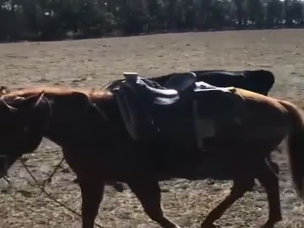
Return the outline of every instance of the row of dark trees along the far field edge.
<path id="1" fill-rule="evenodd" d="M 300 0 L 0 0 L 0 41 L 303 27 Z"/>

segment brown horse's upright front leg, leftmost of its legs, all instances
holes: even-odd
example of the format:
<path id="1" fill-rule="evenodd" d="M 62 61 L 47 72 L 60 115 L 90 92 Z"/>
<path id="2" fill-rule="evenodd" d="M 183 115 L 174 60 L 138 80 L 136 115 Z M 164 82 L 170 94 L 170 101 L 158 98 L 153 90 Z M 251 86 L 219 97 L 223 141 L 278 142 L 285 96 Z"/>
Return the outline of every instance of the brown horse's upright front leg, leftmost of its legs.
<path id="1" fill-rule="evenodd" d="M 94 221 L 103 197 L 104 182 L 91 179 L 79 180 L 82 195 L 82 228 L 94 228 Z"/>

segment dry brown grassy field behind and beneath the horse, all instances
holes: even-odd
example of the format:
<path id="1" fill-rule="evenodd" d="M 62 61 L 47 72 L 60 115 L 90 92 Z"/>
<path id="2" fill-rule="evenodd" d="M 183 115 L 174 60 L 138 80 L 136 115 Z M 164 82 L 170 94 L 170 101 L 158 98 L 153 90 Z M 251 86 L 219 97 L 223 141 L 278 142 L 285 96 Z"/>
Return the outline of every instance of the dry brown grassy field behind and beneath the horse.
<path id="1" fill-rule="evenodd" d="M 122 78 L 124 71 L 143 76 L 194 69 L 267 69 L 276 77 L 271 96 L 301 107 L 304 93 L 304 30 L 226 31 L 116 37 L 83 41 L 0 44 L 1 85 L 69 85 L 99 87 Z M 5 121 L 5 120 L 3 120 Z M 34 176 L 43 181 L 62 154 L 45 140 L 26 156 Z M 280 190 L 284 220 L 277 227 L 304 227 L 304 204 L 295 197 L 286 156 L 280 163 Z M 68 207 L 80 211 L 81 196 L 64 164 L 46 189 Z M 33 185 L 17 162 L 10 170 L 12 186 L 0 180 L 0 227 L 80 227 L 81 220 L 48 199 Z M 162 182 L 163 207 L 181 227 L 199 227 L 207 213 L 229 193 L 231 182 L 178 179 Z M 257 185 L 218 221 L 220 227 L 255 227 L 268 215 L 263 188 Z M 159 227 L 142 211 L 127 189 L 106 188 L 96 220 L 103 227 Z"/>

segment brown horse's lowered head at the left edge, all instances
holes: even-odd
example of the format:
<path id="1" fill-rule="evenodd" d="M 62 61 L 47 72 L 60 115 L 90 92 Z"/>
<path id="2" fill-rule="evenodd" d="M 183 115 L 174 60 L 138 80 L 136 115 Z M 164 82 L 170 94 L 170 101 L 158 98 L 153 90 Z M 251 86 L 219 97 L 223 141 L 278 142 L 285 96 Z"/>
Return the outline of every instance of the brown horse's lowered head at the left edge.
<path id="1" fill-rule="evenodd" d="M 50 104 L 44 92 L 0 97 L 0 178 L 19 157 L 39 146 L 49 114 Z"/>

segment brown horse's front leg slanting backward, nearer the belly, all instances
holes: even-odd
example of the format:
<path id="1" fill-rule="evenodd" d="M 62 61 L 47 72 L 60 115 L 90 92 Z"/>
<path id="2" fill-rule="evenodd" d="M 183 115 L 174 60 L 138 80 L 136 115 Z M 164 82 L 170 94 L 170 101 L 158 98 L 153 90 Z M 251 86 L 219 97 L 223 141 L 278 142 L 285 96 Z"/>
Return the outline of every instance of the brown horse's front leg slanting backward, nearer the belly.
<path id="1" fill-rule="evenodd" d="M 131 191 L 140 201 L 145 213 L 163 228 L 178 228 L 164 215 L 161 206 L 161 189 L 157 180 L 132 181 L 128 183 Z"/>

